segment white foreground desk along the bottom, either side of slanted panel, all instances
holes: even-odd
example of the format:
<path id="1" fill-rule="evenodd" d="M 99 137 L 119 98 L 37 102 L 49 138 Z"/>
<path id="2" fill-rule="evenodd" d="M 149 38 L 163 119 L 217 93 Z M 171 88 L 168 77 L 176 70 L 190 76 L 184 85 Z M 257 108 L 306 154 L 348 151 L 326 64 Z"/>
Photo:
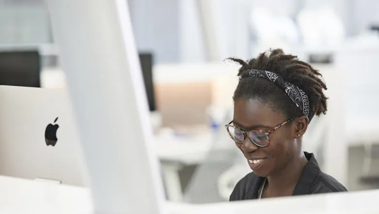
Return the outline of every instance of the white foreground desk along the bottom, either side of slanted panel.
<path id="1" fill-rule="evenodd" d="M 0 213 L 89 214 L 92 213 L 90 191 L 42 181 L 0 176 Z M 166 203 L 169 214 L 377 214 L 379 190 L 310 196 L 282 197 L 254 201 L 216 204 Z"/>

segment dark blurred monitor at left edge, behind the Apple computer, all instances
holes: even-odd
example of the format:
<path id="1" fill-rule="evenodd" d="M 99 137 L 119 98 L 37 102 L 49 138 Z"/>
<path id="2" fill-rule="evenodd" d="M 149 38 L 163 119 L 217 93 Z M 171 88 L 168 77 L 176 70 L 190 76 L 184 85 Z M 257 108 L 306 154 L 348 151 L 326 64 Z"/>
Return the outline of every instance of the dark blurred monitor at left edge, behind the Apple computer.
<path id="1" fill-rule="evenodd" d="M 37 50 L 0 52 L 0 85 L 39 88 L 40 70 Z"/>

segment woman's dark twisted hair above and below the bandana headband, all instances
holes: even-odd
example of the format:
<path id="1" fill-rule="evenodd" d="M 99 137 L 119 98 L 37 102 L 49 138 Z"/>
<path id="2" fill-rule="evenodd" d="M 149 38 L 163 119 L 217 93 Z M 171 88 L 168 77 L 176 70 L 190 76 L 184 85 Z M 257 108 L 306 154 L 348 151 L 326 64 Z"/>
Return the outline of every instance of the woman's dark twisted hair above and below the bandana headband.
<path id="1" fill-rule="evenodd" d="M 241 64 L 238 76 L 251 69 L 276 72 L 283 76 L 287 82 L 294 84 L 308 94 L 310 108 L 315 115 L 326 113 L 327 97 L 323 89 L 327 89 L 322 75 L 312 68 L 308 63 L 300 61 L 297 56 L 284 54 L 282 49 L 270 49 L 248 61 L 237 58 L 228 58 Z M 259 99 L 261 102 L 270 105 L 273 110 L 285 114 L 287 117 L 299 117 L 303 113 L 290 100 L 283 89 L 280 89 L 274 82 L 265 78 L 246 77 L 241 78 L 233 100 L 238 98 Z"/>

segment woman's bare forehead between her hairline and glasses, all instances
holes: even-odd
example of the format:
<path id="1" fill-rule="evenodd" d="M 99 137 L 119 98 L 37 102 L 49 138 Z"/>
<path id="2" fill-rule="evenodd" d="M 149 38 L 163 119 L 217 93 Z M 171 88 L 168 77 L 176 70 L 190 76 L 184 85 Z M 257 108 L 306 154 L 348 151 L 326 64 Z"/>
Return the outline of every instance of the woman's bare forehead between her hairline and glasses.
<path id="1" fill-rule="evenodd" d="M 262 103 L 258 99 L 236 99 L 234 102 L 233 121 L 242 128 L 256 126 L 273 127 L 282 123 L 284 115 L 274 111 L 268 104 Z"/>

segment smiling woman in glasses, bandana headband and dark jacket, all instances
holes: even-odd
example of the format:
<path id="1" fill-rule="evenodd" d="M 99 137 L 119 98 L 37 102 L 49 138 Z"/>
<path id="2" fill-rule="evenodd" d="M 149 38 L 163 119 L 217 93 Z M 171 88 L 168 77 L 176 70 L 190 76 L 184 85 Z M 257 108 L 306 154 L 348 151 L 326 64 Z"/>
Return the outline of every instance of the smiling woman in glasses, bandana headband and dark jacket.
<path id="1" fill-rule="evenodd" d="M 234 92 L 234 117 L 226 129 L 253 172 L 230 200 L 347 191 L 323 173 L 301 139 L 313 115 L 327 111 L 322 75 L 281 49 L 241 64 Z"/>

